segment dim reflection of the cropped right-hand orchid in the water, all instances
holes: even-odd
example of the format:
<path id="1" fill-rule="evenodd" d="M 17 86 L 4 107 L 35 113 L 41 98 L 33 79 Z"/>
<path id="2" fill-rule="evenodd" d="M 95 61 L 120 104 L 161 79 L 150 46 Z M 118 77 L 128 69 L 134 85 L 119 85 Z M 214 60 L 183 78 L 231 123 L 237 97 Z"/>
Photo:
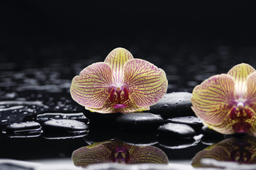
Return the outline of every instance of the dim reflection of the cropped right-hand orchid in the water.
<path id="1" fill-rule="evenodd" d="M 216 167 L 218 164 L 204 164 L 202 160 L 215 159 L 222 162 L 236 162 L 238 164 L 256 163 L 256 137 L 245 135 L 238 139 L 228 138 L 198 152 L 193 158 L 194 167 Z"/>

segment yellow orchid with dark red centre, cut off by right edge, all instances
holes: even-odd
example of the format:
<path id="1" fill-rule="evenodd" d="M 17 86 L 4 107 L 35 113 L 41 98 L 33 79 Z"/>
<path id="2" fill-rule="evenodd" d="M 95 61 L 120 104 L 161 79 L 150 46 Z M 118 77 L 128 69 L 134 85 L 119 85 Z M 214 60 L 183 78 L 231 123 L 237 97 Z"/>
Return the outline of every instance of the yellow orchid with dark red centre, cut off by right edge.
<path id="1" fill-rule="evenodd" d="M 206 79 L 194 88 L 191 103 L 208 128 L 256 136 L 256 72 L 249 64 Z"/>

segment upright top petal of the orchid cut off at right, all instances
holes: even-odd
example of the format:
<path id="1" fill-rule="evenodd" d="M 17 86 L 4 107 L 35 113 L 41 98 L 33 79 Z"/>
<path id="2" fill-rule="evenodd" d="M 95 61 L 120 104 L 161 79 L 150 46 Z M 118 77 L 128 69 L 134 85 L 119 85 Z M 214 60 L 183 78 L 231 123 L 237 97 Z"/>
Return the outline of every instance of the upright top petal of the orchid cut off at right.
<path id="1" fill-rule="evenodd" d="M 253 72 L 255 72 L 255 69 L 245 63 L 235 65 L 228 72 L 228 75 L 235 79 L 235 96 L 237 96 L 237 98 L 244 97 L 247 89 L 246 79 Z"/>

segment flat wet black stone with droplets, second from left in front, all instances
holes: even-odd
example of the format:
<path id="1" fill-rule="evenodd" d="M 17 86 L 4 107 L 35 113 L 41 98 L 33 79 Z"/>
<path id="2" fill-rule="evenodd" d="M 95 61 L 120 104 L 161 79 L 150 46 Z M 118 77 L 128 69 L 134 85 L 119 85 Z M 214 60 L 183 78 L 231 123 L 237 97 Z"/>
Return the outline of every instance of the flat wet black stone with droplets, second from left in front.
<path id="1" fill-rule="evenodd" d="M 77 120 L 60 119 L 48 120 L 43 123 L 44 132 L 70 132 L 70 133 L 84 133 L 87 132 L 89 126 Z"/>

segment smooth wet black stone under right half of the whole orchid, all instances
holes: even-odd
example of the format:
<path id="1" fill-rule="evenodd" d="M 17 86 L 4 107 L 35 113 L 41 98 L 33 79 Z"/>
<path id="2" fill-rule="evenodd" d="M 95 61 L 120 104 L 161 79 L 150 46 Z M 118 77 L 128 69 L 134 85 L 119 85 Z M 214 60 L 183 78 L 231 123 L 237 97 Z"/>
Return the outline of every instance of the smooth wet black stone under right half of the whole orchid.
<path id="1" fill-rule="evenodd" d="M 152 113 L 123 113 L 116 118 L 116 123 L 124 130 L 156 130 L 163 119 Z"/>

